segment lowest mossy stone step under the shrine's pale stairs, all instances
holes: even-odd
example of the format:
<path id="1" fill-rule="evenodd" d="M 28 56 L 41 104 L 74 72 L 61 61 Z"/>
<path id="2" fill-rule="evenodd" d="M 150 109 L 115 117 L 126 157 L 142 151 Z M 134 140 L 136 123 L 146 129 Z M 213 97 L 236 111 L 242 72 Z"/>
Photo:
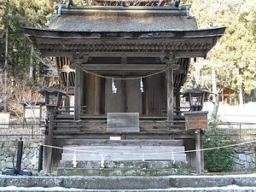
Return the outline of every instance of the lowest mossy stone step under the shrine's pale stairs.
<path id="1" fill-rule="evenodd" d="M 169 176 L 188 175 L 189 169 L 114 169 L 114 168 L 57 168 L 58 176 Z"/>

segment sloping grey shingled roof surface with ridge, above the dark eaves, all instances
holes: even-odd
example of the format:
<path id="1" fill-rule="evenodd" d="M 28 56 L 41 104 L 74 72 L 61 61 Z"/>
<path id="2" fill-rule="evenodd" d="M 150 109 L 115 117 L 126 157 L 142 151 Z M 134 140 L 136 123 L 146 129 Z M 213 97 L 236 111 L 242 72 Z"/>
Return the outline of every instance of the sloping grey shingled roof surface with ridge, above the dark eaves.
<path id="1" fill-rule="evenodd" d="M 188 7 L 61 7 L 49 29 L 67 32 L 157 32 L 196 30 Z"/>

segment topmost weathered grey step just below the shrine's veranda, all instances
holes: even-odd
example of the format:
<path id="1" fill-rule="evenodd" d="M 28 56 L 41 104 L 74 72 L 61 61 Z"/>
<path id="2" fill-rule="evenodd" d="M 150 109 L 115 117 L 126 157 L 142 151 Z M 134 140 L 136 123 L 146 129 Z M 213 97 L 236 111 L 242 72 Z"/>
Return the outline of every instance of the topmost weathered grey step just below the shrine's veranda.
<path id="1" fill-rule="evenodd" d="M 65 145 L 75 146 L 183 146 L 183 140 L 107 140 L 107 139 L 66 139 Z"/>

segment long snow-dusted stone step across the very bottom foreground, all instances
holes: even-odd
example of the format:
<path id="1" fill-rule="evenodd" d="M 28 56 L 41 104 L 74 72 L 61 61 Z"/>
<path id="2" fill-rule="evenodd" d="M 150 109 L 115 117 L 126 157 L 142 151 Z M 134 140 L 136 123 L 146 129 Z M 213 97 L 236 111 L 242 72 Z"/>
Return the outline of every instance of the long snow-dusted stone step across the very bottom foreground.
<path id="1" fill-rule="evenodd" d="M 104 176 L 31 176 L 0 177 L 2 191 L 46 191 L 57 187 L 54 191 L 256 191 L 256 175 L 214 175 L 214 176 L 160 176 L 160 177 L 104 177 Z M 16 190 L 8 186 L 15 186 Z M 41 187 L 44 189 L 24 189 Z M 50 190 L 50 189 L 49 189 Z M 47 190 L 47 191 L 49 191 Z"/>

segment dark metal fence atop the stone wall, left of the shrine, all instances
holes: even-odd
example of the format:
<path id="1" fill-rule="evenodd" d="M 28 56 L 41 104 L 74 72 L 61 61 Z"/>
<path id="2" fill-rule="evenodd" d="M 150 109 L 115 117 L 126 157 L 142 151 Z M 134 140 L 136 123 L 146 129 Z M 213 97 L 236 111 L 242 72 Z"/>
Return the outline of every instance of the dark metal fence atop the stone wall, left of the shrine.
<path id="1" fill-rule="evenodd" d="M 0 137 L 44 138 L 44 122 L 0 123 Z"/>

